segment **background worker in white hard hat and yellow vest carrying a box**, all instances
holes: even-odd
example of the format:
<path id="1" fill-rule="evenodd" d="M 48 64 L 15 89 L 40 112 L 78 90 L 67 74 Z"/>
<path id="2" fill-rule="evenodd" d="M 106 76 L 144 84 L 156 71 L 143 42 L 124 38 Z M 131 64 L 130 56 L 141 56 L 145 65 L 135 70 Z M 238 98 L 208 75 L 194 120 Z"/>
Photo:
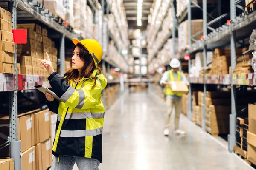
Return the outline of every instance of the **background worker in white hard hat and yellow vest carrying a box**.
<path id="1" fill-rule="evenodd" d="M 170 126 L 170 118 L 172 114 L 172 109 L 175 108 L 175 131 L 176 135 L 183 135 L 185 132 L 179 129 L 180 122 L 180 113 L 182 110 L 182 102 L 181 97 L 182 94 L 175 94 L 172 92 L 171 81 L 184 81 L 187 85 L 189 82 L 187 81 L 185 75 L 179 71 L 180 61 L 176 58 L 172 59 L 170 62 L 170 66 L 172 70 L 168 70 L 163 74 L 163 77 L 160 80 L 160 85 L 165 86 L 165 96 L 166 96 L 166 115 L 165 115 L 165 129 L 163 134 L 165 136 L 169 136 L 169 126 Z"/>

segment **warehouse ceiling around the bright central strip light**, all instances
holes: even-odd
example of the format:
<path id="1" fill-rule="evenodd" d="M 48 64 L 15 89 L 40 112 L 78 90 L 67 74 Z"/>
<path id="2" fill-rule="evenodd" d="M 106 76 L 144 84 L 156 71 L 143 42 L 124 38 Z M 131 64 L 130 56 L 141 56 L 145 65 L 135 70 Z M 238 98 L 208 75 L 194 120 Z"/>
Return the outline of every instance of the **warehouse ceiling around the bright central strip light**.
<path id="1" fill-rule="evenodd" d="M 137 0 L 123 0 L 126 18 L 129 29 L 145 30 L 148 25 L 148 15 L 152 7 L 153 0 L 143 0 L 142 3 L 142 26 L 137 26 Z"/>

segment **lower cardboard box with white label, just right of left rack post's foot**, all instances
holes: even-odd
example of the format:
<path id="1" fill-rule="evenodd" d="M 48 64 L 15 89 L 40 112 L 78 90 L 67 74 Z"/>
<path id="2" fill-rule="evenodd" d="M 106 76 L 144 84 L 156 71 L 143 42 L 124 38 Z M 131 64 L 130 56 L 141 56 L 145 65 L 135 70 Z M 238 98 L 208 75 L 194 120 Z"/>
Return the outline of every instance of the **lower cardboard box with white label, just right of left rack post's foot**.
<path id="1" fill-rule="evenodd" d="M 36 170 L 35 168 L 35 146 L 32 146 L 25 152 L 21 153 L 21 169 Z"/>

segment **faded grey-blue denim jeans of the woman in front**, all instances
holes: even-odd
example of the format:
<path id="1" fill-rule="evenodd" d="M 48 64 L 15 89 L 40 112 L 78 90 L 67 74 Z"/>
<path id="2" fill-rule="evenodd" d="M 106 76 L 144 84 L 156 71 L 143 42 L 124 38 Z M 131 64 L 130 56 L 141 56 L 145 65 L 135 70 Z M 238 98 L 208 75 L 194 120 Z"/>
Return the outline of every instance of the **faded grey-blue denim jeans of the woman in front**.
<path id="1" fill-rule="evenodd" d="M 77 164 L 79 170 L 99 170 L 99 160 L 93 158 L 84 158 L 78 156 L 60 155 L 54 156 L 51 170 L 72 170 L 74 164 Z"/>

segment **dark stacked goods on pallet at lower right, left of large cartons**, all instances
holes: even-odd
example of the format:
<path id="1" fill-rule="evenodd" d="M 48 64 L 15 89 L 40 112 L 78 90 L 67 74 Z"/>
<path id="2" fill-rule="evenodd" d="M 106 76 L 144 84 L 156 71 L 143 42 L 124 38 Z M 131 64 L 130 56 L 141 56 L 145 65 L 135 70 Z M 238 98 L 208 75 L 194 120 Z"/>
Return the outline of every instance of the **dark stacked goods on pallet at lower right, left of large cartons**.
<path id="1" fill-rule="evenodd" d="M 236 145 L 234 147 L 235 153 L 247 158 L 247 131 L 248 118 L 236 118 Z"/>

